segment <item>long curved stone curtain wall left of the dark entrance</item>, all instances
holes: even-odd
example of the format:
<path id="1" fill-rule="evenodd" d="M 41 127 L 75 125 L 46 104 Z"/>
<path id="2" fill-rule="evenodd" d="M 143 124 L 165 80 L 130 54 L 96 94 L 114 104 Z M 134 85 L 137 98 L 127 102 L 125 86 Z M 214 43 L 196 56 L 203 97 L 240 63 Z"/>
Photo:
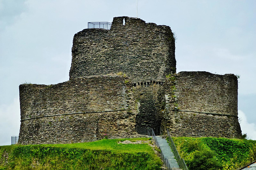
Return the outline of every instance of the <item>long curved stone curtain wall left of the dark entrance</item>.
<path id="1" fill-rule="evenodd" d="M 134 135 L 137 111 L 122 76 L 20 85 L 20 144 L 71 143 Z"/>

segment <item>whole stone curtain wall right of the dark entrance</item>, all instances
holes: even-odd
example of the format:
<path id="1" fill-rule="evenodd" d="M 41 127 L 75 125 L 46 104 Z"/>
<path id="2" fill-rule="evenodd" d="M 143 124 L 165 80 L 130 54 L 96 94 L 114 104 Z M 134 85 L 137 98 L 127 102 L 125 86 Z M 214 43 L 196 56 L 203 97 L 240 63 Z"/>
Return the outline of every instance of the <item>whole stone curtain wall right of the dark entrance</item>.
<path id="1" fill-rule="evenodd" d="M 172 135 L 241 137 L 234 74 L 180 72 L 170 79 L 166 84 L 168 117 L 164 123 Z"/>

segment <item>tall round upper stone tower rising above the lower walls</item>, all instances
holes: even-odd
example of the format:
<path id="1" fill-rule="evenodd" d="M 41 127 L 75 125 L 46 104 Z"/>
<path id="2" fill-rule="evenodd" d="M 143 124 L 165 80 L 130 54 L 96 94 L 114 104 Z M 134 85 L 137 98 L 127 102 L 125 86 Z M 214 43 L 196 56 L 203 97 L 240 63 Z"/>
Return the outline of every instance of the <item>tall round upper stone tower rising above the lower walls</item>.
<path id="1" fill-rule="evenodd" d="M 116 17 L 110 30 L 84 29 L 74 35 L 70 79 L 118 72 L 134 83 L 164 81 L 165 75 L 175 73 L 170 27 Z"/>

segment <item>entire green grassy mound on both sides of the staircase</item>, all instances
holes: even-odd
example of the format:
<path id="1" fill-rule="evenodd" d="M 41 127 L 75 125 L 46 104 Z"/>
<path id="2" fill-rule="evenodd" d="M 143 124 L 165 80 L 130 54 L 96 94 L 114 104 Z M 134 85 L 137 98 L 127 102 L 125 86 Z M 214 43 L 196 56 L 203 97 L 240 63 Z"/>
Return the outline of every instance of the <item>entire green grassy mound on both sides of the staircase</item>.
<path id="1" fill-rule="evenodd" d="M 142 144 L 120 141 L 142 140 Z M 236 170 L 256 160 L 256 141 L 226 138 L 173 137 L 190 170 Z M 90 143 L 10 145 L 0 147 L 0 170 L 159 170 L 149 138 L 103 139 Z"/>

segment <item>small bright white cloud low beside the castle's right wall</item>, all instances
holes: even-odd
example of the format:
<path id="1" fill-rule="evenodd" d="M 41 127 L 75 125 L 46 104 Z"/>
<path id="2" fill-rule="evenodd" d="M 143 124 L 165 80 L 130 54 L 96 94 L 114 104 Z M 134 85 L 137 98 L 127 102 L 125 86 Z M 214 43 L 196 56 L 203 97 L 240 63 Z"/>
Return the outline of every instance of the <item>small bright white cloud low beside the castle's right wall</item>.
<path id="1" fill-rule="evenodd" d="M 248 123 L 247 117 L 242 110 L 238 110 L 238 117 L 241 120 L 242 133 L 246 133 L 248 139 L 256 140 L 256 123 Z"/>

